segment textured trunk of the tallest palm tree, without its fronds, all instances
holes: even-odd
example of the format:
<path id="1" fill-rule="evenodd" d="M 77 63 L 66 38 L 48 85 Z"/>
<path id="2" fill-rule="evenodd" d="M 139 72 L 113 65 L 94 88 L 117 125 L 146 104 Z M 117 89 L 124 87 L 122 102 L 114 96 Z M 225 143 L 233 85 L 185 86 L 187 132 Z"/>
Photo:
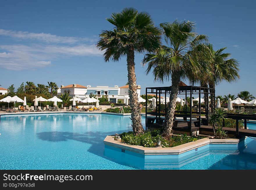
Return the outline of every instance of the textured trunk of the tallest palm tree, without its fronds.
<path id="1" fill-rule="evenodd" d="M 127 53 L 127 70 L 128 70 L 132 130 L 134 134 L 138 135 L 138 134 L 144 133 L 144 129 L 141 124 L 141 114 L 140 114 L 140 108 L 138 103 L 133 46 L 129 48 Z"/>

